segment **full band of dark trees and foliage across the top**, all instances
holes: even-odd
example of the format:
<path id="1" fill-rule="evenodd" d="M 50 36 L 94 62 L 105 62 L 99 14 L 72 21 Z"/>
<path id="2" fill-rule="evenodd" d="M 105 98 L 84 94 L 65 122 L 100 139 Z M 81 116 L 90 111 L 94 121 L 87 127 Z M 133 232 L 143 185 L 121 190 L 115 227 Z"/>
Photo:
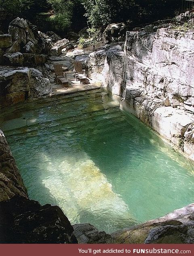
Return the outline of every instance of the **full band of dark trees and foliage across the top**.
<path id="1" fill-rule="evenodd" d="M 95 32 L 113 22 L 138 25 L 173 17 L 181 0 L 0 0 L 0 6 L 32 21 L 44 13 L 58 31 L 89 26 Z"/>

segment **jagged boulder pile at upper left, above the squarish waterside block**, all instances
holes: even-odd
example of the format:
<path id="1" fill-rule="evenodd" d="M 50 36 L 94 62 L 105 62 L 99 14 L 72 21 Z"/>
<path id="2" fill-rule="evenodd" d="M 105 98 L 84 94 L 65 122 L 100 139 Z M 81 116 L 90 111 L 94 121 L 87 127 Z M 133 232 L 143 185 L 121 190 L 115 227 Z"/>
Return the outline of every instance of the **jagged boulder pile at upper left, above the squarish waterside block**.
<path id="1" fill-rule="evenodd" d="M 8 28 L 8 34 L 0 34 L 0 64 L 36 67 L 46 62 L 46 56 L 59 56 L 62 49 L 72 49 L 67 39 L 54 32 L 41 33 L 25 19 L 17 17 Z"/>

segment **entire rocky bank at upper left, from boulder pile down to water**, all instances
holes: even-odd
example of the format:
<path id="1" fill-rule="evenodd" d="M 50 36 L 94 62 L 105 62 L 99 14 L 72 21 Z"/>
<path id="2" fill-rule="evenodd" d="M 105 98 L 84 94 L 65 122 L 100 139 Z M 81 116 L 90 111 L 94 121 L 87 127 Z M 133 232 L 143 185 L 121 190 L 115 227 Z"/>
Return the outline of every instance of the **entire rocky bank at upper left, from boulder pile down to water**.
<path id="1" fill-rule="evenodd" d="M 61 39 L 52 31 L 44 34 L 19 17 L 9 24 L 7 34 L 1 33 L 0 31 L 0 105 L 49 95 L 50 82 L 53 82 L 51 60 L 57 59 L 58 63 L 62 50 L 67 52 L 74 48 L 72 43 Z M 66 63 L 69 65 L 70 62 L 63 61 L 62 64 Z M 70 66 L 72 63 L 68 67 Z"/>

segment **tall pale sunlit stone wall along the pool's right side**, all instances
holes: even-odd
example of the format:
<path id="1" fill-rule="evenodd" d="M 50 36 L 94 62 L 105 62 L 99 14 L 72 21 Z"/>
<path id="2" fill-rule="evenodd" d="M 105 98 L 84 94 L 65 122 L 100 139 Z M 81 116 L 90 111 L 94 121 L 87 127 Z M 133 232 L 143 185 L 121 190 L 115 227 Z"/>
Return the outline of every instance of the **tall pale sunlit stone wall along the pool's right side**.
<path id="1" fill-rule="evenodd" d="M 127 32 L 89 55 L 89 75 L 122 97 L 120 108 L 194 160 L 194 30 Z"/>

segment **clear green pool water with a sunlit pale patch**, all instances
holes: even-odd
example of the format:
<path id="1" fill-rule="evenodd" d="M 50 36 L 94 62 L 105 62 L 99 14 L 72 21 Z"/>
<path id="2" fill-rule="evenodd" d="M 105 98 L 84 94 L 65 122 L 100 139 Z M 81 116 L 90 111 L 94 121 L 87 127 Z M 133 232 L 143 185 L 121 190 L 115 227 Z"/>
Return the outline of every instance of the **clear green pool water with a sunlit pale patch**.
<path id="1" fill-rule="evenodd" d="M 194 169 L 106 92 L 18 105 L 0 117 L 30 198 L 112 232 L 194 202 Z"/>

